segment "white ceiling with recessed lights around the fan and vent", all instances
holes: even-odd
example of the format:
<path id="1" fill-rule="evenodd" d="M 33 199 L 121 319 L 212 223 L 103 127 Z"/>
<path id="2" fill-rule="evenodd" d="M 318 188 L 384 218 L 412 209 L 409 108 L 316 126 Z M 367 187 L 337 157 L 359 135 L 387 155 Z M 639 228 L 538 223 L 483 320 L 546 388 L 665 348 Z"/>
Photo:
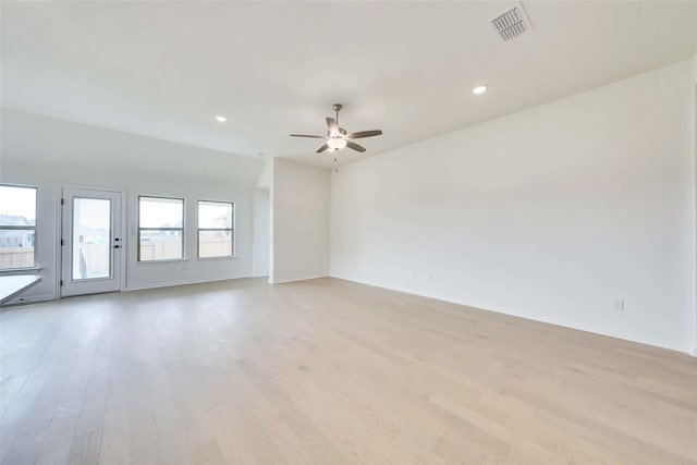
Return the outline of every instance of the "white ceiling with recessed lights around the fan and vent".
<path id="1" fill-rule="evenodd" d="M 697 2 L 2 2 L 2 105 L 232 154 L 376 155 L 689 58 Z M 489 91 L 470 89 L 485 83 Z M 213 120 L 224 114 L 224 124 Z"/>

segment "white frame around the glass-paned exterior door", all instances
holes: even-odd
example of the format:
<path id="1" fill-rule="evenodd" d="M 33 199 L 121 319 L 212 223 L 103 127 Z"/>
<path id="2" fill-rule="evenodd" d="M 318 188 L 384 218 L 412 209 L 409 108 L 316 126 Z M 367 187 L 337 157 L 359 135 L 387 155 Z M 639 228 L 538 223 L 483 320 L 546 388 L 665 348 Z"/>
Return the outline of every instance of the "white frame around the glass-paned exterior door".
<path id="1" fill-rule="evenodd" d="M 119 292 L 124 292 L 126 290 L 126 266 L 127 266 L 127 257 L 126 247 L 129 246 L 129 240 L 126 238 L 126 209 L 127 209 L 127 191 L 119 187 L 108 187 L 108 186 L 88 186 L 84 184 L 59 184 L 58 185 L 58 195 L 56 196 L 56 231 L 58 231 L 58 237 L 56 237 L 56 298 L 69 298 L 61 296 L 61 280 L 63 279 L 63 246 L 61 245 L 61 240 L 65 240 L 63 237 L 63 189 L 72 188 L 72 189 L 86 189 L 86 191 L 103 191 L 103 192 L 113 192 L 121 194 L 121 231 L 120 237 L 121 248 L 119 253 L 119 258 L 121 259 L 121 270 L 119 280 L 121 281 Z"/>

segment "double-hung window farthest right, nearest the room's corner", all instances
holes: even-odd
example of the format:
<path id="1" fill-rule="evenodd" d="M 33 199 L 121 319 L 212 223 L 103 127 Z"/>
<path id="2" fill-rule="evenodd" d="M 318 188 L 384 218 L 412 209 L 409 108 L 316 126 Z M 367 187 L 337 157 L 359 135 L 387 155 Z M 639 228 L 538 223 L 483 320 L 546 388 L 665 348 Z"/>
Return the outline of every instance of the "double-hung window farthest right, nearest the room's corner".
<path id="1" fill-rule="evenodd" d="M 232 257 L 235 205 L 198 200 L 198 258 Z"/>

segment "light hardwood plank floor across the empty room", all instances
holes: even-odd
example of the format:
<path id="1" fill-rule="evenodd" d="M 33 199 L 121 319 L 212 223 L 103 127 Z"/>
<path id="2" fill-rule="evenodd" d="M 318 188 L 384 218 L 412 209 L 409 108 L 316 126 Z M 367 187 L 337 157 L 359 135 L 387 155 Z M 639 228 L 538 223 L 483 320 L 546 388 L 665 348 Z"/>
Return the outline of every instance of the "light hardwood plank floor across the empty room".
<path id="1" fill-rule="evenodd" d="M 697 464 L 697 359 L 346 281 L 0 322 L 4 464 Z"/>

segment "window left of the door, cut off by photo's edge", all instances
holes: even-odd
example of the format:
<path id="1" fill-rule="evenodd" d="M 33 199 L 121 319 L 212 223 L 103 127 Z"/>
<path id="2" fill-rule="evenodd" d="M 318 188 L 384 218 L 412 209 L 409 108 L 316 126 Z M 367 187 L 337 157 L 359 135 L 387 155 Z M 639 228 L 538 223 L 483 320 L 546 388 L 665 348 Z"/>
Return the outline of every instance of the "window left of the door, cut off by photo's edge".
<path id="1" fill-rule="evenodd" d="M 0 270 L 36 266 L 36 187 L 0 185 Z"/>

